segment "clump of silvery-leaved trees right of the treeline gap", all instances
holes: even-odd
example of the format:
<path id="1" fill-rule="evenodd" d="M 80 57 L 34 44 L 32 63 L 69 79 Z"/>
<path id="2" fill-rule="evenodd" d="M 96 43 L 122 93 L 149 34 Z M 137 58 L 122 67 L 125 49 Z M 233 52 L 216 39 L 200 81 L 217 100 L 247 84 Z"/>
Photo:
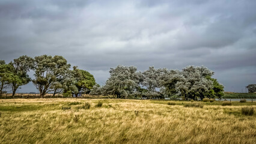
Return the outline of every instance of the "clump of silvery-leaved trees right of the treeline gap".
<path id="1" fill-rule="evenodd" d="M 182 70 L 156 69 L 137 71 L 136 67 L 118 65 L 109 71 L 104 86 L 95 85 L 90 94 L 116 95 L 117 98 L 221 98 L 224 86 L 213 79 L 213 71 L 206 67 L 189 66 Z"/>

